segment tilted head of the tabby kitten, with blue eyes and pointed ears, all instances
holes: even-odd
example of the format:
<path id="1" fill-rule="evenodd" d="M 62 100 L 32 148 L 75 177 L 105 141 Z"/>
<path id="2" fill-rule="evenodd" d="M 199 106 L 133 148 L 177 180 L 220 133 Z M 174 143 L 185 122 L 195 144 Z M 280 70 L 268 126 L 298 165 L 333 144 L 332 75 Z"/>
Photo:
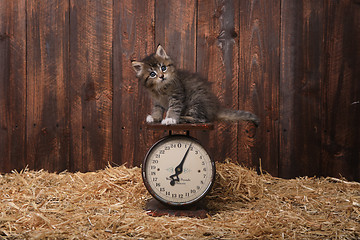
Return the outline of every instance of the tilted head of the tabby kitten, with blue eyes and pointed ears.
<path id="1" fill-rule="evenodd" d="M 132 62 L 136 77 L 146 88 L 159 90 L 174 77 L 175 67 L 159 45 L 156 53 L 144 58 L 141 62 Z"/>

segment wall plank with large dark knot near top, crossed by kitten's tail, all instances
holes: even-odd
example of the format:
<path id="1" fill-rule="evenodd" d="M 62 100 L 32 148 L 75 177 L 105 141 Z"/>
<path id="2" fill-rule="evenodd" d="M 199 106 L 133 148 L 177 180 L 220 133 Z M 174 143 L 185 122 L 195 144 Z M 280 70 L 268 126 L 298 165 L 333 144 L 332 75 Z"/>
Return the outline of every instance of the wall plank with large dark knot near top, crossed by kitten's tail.
<path id="1" fill-rule="evenodd" d="M 239 1 L 198 1 L 197 71 L 223 107 L 232 109 L 238 109 L 238 9 Z M 238 161 L 237 133 L 238 123 L 217 123 L 214 131 L 196 136 L 216 161 Z"/>

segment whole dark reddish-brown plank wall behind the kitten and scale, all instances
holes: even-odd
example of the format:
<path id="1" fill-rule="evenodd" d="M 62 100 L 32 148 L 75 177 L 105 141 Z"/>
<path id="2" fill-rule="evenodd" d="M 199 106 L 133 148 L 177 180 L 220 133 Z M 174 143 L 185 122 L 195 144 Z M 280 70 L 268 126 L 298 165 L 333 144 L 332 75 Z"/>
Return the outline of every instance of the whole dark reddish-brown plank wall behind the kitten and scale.
<path id="1" fill-rule="evenodd" d="M 192 133 L 217 161 L 360 180 L 358 0 L 0 0 L 0 172 L 140 165 L 159 43 L 262 119 Z"/>

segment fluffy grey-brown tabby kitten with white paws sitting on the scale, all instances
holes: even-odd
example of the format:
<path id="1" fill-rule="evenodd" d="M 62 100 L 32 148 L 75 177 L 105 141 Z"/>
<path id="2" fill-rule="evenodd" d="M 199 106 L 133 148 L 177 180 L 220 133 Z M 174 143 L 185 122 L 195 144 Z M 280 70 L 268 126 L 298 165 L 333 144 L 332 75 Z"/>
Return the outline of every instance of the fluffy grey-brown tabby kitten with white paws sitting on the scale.
<path id="1" fill-rule="evenodd" d="M 151 115 L 146 118 L 148 123 L 161 121 L 169 125 L 215 120 L 252 121 L 256 126 L 260 123 L 253 113 L 222 108 L 209 83 L 196 73 L 178 70 L 160 45 L 156 53 L 142 61 L 132 61 L 132 66 L 153 99 Z"/>

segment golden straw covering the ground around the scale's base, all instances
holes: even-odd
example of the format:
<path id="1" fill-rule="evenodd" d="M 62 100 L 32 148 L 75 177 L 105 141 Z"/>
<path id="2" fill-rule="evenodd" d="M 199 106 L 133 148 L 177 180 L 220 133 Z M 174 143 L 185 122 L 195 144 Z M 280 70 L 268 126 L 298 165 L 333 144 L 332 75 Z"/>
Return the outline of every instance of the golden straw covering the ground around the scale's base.
<path id="1" fill-rule="evenodd" d="M 139 168 L 0 175 L 0 239 L 358 239 L 360 184 L 217 163 L 205 219 L 151 217 Z"/>

